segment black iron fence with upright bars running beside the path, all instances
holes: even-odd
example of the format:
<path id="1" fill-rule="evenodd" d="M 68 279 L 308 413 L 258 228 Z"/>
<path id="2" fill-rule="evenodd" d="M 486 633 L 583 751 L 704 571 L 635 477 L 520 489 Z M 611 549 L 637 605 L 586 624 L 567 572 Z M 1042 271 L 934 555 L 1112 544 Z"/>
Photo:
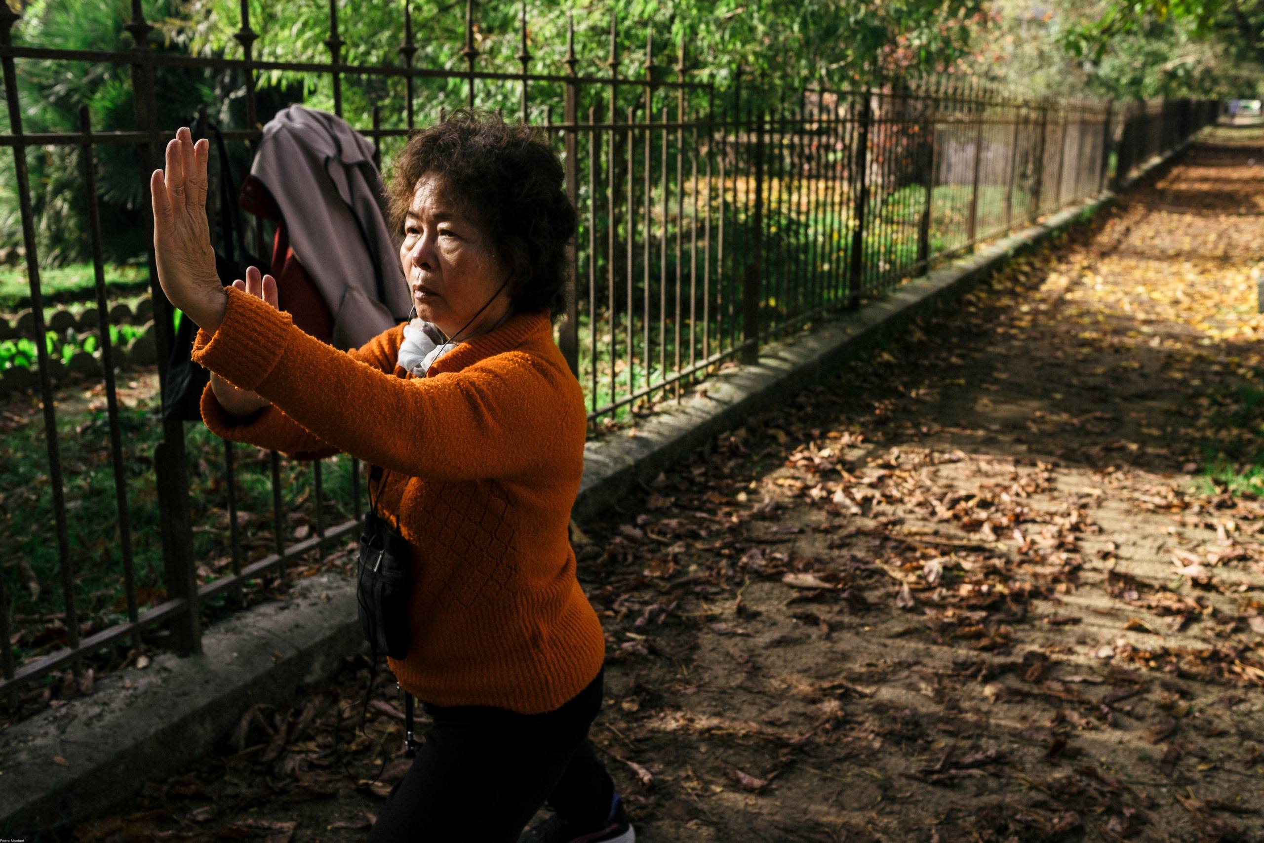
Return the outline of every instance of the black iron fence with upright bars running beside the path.
<path id="1" fill-rule="evenodd" d="M 412 67 L 416 48 L 407 5 L 399 63 L 350 66 L 340 61 L 345 42 L 337 35 L 337 11 L 336 0 L 331 0 L 325 42 L 330 61 L 303 63 L 252 58 L 258 34 L 250 28 L 245 0 L 235 33 L 240 58 L 147 49 L 152 25 L 143 18 L 139 0 L 133 0 L 133 18 L 125 23 L 135 43 L 131 51 L 15 47 L 11 33 L 19 15 L 0 4 L 0 61 L 9 119 L 0 145 L 13 153 L 32 303 L 30 316 L 20 324 L 35 340 L 33 368 L 47 445 L 47 473 L 25 478 L 14 471 L 4 478 L 9 488 L 0 489 L 18 502 L 16 508 L 10 507 L 4 533 L 13 546 L 5 549 L 9 559 L 0 569 L 0 693 L 15 695 L 67 665 L 77 674 L 85 658 L 116 645 L 139 645 L 143 632 L 166 628 L 163 634 L 174 650 L 198 651 L 202 617 L 210 604 L 226 593 L 240 597 L 243 585 L 255 578 L 284 579 L 295 560 L 313 551 L 324 554 L 334 540 L 351 533 L 363 511 L 356 461 L 339 463 L 346 469 L 334 483 L 341 489 L 340 506 L 327 494 L 325 461 L 317 460 L 303 475 L 311 483 L 311 494 L 302 495 L 311 530 L 291 530 L 293 513 L 287 513 L 286 499 L 295 507 L 301 503 L 283 495 L 283 465 L 292 460 L 276 452 L 265 455 L 253 482 L 268 488 L 245 490 L 239 471 L 243 446 L 217 444 L 217 458 L 205 447 L 191 454 L 187 436 L 196 431 L 186 431 L 183 422 L 153 421 L 150 427 L 161 425 L 161 431 L 150 430 L 149 439 L 143 439 L 121 412 L 118 354 L 106 330 L 112 311 L 104 284 L 95 155 L 102 147 L 133 148 L 135 178 L 148 188 L 147 176 L 159 161 L 159 145 L 181 125 L 159 123 L 155 75 L 162 68 L 241 75 L 244 125 L 221 129 L 230 143 L 246 150 L 260 139 L 260 124 L 270 116 L 259 107 L 259 73 L 327 77 L 339 115 L 348 80 L 368 77 L 396 86 L 392 90 L 401 97 L 402 112 L 383 115 L 374 107 L 372 125 L 359 126 L 379 145 L 379 154 L 389 154 L 392 143 L 397 148 L 418 116 L 431 119 L 442 107 L 478 105 L 480 92 L 503 94 L 506 86 L 517 86 L 521 116 L 540 123 L 556 144 L 565 163 L 566 191 L 579 210 L 570 305 L 556 339 L 585 388 L 594 422 L 627 418 L 653 401 L 679 396 L 686 383 L 728 360 L 753 360 L 771 339 L 830 311 L 856 307 L 925 273 L 937 260 L 1097 193 L 1110 178 L 1172 149 L 1216 115 L 1211 102 L 1029 101 L 983 90 L 899 85 L 863 91 L 808 90 L 781 99 L 750 81 L 743 90 L 741 72 L 734 75 L 737 83 L 726 90 L 689 81 L 700 75 L 688 66 L 683 47 L 675 66 L 666 68 L 656 67 L 652 44 L 646 48 L 643 73 L 621 77 L 613 27 L 608 76 L 576 72 L 573 32 L 560 72 L 537 73 L 530 72 L 525 19 L 522 48 L 516 56 L 522 72 L 482 71 L 471 3 L 465 8 L 464 70 Z M 24 133 L 16 75 L 27 61 L 128 67 L 135 126 L 94 131 L 82 109 L 78 126 Z M 430 91 L 425 107 L 418 105 L 427 83 L 451 80 L 463 82 L 463 96 L 456 101 Z M 97 313 L 91 322 L 100 329 L 99 348 L 91 354 L 92 363 L 76 370 L 96 372 L 102 378 L 106 404 L 100 423 L 87 426 L 87 431 L 76 426 L 73 436 L 100 434 L 96 464 L 99 471 L 109 464 L 109 490 L 81 483 L 83 473 L 94 470 L 91 465 L 77 461 L 67 469 L 63 463 L 66 420 L 59 428 L 54 403 L 61 363 L 42 341 L 48 325 L 35 236 L 40 220 L 30 200 L 27 155 L 32 149 L 58 147 L 80 150 L 96 278 Z M 143 205 L 148 209 L 148 196 Z M 258 222 L 254 238 L 255 254 L 268 254 L 269 226 Z M 157 284 L 152 254 L 149 265 L 157 374 L 159 388 L 166 391 L 174 315 Z M 148 447 L 145 442 L 153 444 L 152 454 L 138 454 L 137 442 L 142 442 L 140 451 Z M 138 459 L 140 470 L 135 468 Z M 198 482 L 215 478 L 202 489 L 214 500 L 202 492 L 191 494 L 191 475 Z M 67 499 L 67 488 L 95 489 L 99 498 L 112 498 L 114 514 L 97 519 L 95 537 L 88 538 L 87 527 L 78 521 L 72 525 L 71 511 L 78 504 Z M 270 495 L 270 517 L 244 518 L 240 498 L 246 492 L 262 500 Z M 47 513 L 52 525 L 27 525 L 25 535 L 16 535 L 14 518 L 23 500 L 48 502 L 47 507 L 39 504 L 43 509 L 32 504 L 32 512 Z M 332 513 L 343 519 L 327 523 Z M 133 521 L 143 525 L 139 533 Z M 253 535 L 245 521 L 255 527 Z M 195 531 L 219 537 L 225 555 L 215 566 L 209 567 L 195 552 Z M 16 565 L 8 564 L 14 551 L 20 560 Z M 138 555 L 148 556 L 148 569 L 138 571 Z M 39 565 L 29 561 L 37 556 L 43 560 Z M 77 600 L 83 597 L 80 580 L 88 569 L 97 576 L 102 570 L 106 579 L 112 576 L 116 599 L 112 604 L 96 600 L 94 617 L 85 622 Z M 19 573 L 24 579 L 29 574 L 37 585 L 56 581 L 57 586 L 46 588 L 40 602 L 39 588 L 29 588 L 29 583 L 27 590 L 15 588 Z M 153 581 L 140 583 L 144 575 Z M 25 614 L 14 612 L 19 598 L 29 609 Z M 46 632 L 52 618 L 58 634 L 51 640 L 25 637 L 15 618 L 32 617 L 46 622 Z"/>

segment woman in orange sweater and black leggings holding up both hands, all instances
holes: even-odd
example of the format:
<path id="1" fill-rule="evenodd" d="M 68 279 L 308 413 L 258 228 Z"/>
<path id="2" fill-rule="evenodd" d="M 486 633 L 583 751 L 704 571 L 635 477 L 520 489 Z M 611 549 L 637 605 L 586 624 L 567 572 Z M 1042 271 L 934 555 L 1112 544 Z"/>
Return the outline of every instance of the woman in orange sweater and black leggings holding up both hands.
<path id="1" fill-rule="evenodd" d="M 207 427 L 383 469 L 370 497 L 408 549 L 408 651 L 387 658 L 434 723 L 370 842 L 631 843 L 588 742 L 605 641 L 568 538 L 584 401 L 552 341 L 575 210 L 540 135 L 458 111 L 415 133 L 389 187 L 418 318 L 348 353 L 277 310 L 252 268 L 224 287 L 206 140 L 150 178 L 158 281 L 200 327 Z M 522 833 L 536 810 L 554 815 Z"/>

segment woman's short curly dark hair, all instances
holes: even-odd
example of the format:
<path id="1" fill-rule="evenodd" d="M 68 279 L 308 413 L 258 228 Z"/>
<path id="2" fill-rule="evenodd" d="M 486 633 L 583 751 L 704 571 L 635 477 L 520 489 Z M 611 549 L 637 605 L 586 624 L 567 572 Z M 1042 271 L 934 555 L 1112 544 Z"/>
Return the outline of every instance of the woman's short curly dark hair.
<path id="1" fill-rule="evenodd" d="M 393 230 L 402 233 L 422 176 L 439 177 L 444 197 L 471 216 L 511 267 L 509 300 L 517 311 L 566 312 L 566 245 L 575 235 L 575 206 L 565 173 L 542 133 L 507 124 L 494 111 L 458 109 L 408 138 L 387 188 Z"/>

